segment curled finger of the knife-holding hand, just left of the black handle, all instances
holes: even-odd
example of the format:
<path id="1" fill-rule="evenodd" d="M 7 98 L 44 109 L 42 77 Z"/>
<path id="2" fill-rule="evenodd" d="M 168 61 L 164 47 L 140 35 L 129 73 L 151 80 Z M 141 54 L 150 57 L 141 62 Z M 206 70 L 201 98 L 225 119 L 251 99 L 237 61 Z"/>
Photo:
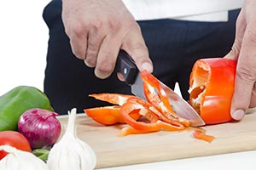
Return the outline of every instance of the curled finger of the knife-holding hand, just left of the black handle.
<path id="1" fill-rule="evenodd" d="M 103 39 L 96 60 L 96 77 L 104 79 L 111 75 L 115 67 L 120 44 L 118 37 L 107 36 Z"/>

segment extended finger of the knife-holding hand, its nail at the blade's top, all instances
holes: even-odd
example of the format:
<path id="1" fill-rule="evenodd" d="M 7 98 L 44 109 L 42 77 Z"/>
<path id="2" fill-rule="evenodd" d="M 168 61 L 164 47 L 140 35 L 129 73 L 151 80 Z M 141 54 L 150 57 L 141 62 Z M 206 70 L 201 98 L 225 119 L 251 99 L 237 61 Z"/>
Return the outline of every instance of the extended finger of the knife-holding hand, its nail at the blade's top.
<path id="1" fill-rule="evenodd" d="M 121 48 L 131 55 L 139 71 L 147 70 L 153 72 L 153 64 L 149 58 L 148 48 L 138 25 L 125 36 Z"/>

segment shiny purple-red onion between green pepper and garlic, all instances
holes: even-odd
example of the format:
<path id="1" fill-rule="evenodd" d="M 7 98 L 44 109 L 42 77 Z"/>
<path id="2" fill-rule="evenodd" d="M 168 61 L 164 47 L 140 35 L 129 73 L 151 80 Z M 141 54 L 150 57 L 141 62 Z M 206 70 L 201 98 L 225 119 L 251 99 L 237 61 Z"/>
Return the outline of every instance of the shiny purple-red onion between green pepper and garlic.
<path id="1" fill-rule="evenodd" d="M 43 109 L 25 111 L 19 119 L 18 128 L 29 141 L 32 149 L 47 148 L 55 144 L 61 134 L 58 114 Z"/>

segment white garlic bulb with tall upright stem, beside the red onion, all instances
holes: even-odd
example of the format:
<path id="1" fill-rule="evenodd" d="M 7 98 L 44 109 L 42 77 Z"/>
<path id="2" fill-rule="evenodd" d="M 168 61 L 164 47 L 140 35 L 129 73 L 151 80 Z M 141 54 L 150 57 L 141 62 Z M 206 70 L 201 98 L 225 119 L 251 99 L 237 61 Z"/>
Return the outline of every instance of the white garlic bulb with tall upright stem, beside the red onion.
<path id="1" fill-rule="evenodd" d="M 95 152 L 76 136 L 76 114 L 75 108 L 68 111 L 66 132 L 49 151 L 49 170 L 91 170 L 96 167 Z"/>

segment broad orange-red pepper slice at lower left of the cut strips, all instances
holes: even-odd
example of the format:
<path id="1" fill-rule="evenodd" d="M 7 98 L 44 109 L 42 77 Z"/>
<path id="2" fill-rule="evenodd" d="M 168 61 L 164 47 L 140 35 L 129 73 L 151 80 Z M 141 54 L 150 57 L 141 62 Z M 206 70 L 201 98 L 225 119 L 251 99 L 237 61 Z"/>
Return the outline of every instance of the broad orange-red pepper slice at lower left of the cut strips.
<path id="1" fill-rule="evenodd" d="M 90 116 L 95 122 L 99 122 L 103 125 L 125 123 L 123 116 L 120 115 L 120 106 L 118 105 L 84 109 L 84 113 L 86 113 L 87 116 Z M 132 119 L 137 120 L 140 117 L 138 111 L 133 111 L 131 113 Z"/>

